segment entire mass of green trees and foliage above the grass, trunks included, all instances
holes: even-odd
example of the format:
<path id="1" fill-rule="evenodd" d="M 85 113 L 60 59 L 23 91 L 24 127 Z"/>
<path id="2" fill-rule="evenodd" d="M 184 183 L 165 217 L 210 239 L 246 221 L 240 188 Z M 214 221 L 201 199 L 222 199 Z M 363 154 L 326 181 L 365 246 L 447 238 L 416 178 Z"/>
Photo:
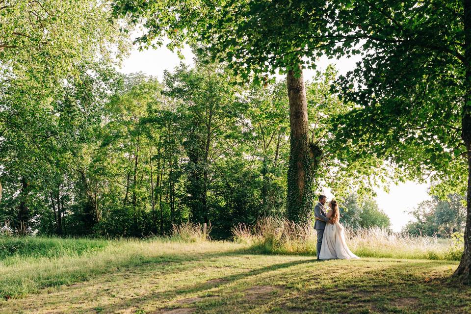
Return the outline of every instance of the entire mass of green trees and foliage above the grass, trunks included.
<path id="1" fill-rule="evenodd" d="M 286 209 L 308 221 L 315 193 L 347 203 L 391 177 L 470 198 L 471 1 L 285 4 L 0 0 L 0 218 L 20 234 L 143 236 L 191 221 L 226 237 Z M 112 70 L 141 18 L 142 47 L 193 44 L 195 66 L 162 82 Z M 363 59 L 300 81 L 323 54 Z M 414 228 L 450 235 L 467 220 L 457 274 L 469 282 L 471 202 L 467 219 L 436 202 Z M 351 203 L 352 226 L 389 225 L 374 202 Z"/>

